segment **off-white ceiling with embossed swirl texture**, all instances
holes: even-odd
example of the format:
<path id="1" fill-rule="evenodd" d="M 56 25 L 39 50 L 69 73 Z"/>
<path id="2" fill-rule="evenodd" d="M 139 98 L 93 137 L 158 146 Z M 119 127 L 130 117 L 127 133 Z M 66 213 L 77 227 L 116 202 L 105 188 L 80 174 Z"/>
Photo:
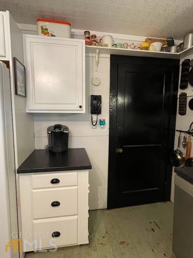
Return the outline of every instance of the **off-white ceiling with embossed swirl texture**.
<path id="1" fill-rule="evenodd" d="M 0 10 L 17 23 L 57 19 L 89 31 L 182 39 L 193 30 L 192 0 L 0 0 Z"/>

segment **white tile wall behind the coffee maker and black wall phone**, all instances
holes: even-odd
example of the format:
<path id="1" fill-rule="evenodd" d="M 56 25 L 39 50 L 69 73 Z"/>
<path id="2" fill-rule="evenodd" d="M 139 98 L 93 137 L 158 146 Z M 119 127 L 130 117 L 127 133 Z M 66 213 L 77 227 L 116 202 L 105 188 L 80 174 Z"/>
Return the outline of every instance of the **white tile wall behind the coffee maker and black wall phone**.
<path id="1" fill-rule="evenodd" d="M 91 119 L 88 121 L 52 121 L 45 116 L 34 121 L 35 148 L 43 149 L 47 145 L 47 127 L 50 124 L 65 124 L 69 127 L 69 148 L 85 148 L 92 164 L 89 171 L 89 208 L 104 209 L 107 207 L 107 179 L 108 179 L 108 154 L 109 154 L 109 90 L 110 90 L 110 56 L 99 57 L 98 69 L 95 71 L 95 59 L 92 55 L 86 56 L 86 85 L 90 85 L 86 98 L 90 95 L 102 95 L 102 114 L 105 118 L 107 132 L 99 132 L 99 128 L 92 128 Z M 92 79 L 99 77 L 100 85 L 92 84 Z M 87 112 L 90 112 L 88 108 Z M 90 116 L 89 116 L 90 117 Z"/>

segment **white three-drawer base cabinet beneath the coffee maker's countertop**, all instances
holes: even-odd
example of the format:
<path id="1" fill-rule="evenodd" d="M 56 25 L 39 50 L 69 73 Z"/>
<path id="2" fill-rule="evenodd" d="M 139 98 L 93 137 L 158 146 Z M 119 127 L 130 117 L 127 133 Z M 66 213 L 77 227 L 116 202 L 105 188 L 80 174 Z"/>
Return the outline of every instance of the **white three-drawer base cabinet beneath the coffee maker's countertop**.
<path id="1" fill-rule="evenodd" d="M 24 251 L 88 243 L 88 170 L 19 174 L 19 182 Z"/>

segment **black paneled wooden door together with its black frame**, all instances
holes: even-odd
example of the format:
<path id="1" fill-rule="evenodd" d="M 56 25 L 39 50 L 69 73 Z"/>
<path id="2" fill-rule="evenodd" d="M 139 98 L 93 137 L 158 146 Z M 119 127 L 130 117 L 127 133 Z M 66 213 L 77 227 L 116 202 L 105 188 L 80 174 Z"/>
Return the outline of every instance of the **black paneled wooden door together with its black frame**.
<path id="1" fill-rule="evenodd" d="M 172 174 L 168 157 L 174 142 L 177 70 L 176 60 L 111 56 L 111 90 L 116 86 L 116 96 L 111 92 L 110 102 L 114 108 L 115 97 L 117 101 L 116 112 L 111 106 L 109 129 L 109 149 L 115 145 L 115 161 L 109 151 L 114 208 L 166 200 L 167 177 L 171 180 Z M 114 175 L 110 163 L 114 163 Z M 111 181 L 108 208 L 112 208 Z"/>

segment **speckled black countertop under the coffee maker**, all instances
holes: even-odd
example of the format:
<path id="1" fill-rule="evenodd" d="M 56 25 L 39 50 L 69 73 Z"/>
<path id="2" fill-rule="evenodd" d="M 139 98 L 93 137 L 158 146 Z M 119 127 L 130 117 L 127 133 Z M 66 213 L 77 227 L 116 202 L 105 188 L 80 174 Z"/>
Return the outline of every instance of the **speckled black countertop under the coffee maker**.
<path id="1" fill-rule="evenodd" d="M 56 155 L 49 153 L 49 150 L 34 150 L 18 167 L 17 174 L 91 168 L 92 165 L 84 148 L 68 149 L 68 153 Z"/>

